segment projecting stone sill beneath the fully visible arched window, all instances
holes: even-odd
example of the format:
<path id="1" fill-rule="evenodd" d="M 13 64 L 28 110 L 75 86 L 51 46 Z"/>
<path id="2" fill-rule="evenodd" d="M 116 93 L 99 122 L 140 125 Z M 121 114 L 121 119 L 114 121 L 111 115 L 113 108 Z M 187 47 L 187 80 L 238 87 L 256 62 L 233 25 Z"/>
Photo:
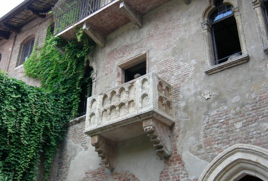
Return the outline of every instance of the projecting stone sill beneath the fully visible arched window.
<path id="1" fill-rule="evenodd" d="M 245 63 L 249 60 L 249 58 L 250 58 L 249 55 L 241 55 L 240 57 L 238 57 L 236 59 L 221 63 L 219 65 L 215 65 L 215 66 L 210 67 L 208 69 L 205 69 L 204 72 L 208 75 L 214 74 L 216 72 L 219 72 L 219 71 L 231 68 L 233 66 Z"/>

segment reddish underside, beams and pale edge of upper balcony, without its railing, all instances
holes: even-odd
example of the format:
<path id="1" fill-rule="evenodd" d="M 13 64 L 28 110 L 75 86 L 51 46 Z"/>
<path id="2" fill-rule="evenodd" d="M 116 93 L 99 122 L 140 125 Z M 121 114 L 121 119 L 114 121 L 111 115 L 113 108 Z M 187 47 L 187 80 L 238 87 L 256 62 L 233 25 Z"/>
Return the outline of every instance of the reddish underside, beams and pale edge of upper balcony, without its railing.
<path id="1" fill-rule="evenodd" d="M 137 28 L 142 28 L 142 16 L 169 1 L 171 0 L 108 0 L 108 4 L 101 5 L 99 9 L 88 16 L 66 26 L 56 36 L 68 41 L 73 40 L 76 39 L 77 29 L 83 28 L 85 34 L 93 39 L 97 45 L 104 47 L 106 35 L 130 22 L 134 23 Z M 180 1 L 190 4 L 190 0 Z"/>

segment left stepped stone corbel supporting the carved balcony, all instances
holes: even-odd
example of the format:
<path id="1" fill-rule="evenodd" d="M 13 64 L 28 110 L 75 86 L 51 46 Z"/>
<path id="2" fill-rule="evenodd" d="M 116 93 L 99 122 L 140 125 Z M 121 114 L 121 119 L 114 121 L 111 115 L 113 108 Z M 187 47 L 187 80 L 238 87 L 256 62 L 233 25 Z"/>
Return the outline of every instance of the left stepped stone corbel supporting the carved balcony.
<path id="1" fill-rule="evenodd" d="M 116 143 L 99 135 L 91 136 L 91 145 L 102 159 L 105 168 L 114 169 L 116 166 Z"/>

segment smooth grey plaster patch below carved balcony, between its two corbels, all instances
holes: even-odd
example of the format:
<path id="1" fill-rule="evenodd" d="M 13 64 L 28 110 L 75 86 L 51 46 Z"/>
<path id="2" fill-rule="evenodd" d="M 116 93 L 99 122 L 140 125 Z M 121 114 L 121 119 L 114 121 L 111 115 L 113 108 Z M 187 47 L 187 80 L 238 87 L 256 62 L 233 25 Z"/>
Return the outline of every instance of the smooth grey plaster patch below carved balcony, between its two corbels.
<path id="1" fill-rule="evenodd" d="M 140 181 L 158 180 L 164 167 L 147 135 L 119 142 L 117 155 L 114 172 L 128 170 Z"/>

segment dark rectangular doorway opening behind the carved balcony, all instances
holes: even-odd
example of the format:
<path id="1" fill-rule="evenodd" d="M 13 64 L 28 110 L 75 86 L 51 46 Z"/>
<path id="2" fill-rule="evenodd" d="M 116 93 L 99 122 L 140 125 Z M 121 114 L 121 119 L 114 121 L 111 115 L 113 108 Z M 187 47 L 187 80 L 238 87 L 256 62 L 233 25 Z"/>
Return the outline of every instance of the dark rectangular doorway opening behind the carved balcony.
<path id="1" fill-rule="evenodd" d="M 135 65 L 129 69 L 125 70 L 125 82 L 129 82 L 130 80 L 134 80 L 134 76 L 136 74 L 140 74 L 141 76 L 146 74 L 146 62 L 142 62 L 138 65 Z M 138 77 L 138 76 L 136 76 Z"/>

